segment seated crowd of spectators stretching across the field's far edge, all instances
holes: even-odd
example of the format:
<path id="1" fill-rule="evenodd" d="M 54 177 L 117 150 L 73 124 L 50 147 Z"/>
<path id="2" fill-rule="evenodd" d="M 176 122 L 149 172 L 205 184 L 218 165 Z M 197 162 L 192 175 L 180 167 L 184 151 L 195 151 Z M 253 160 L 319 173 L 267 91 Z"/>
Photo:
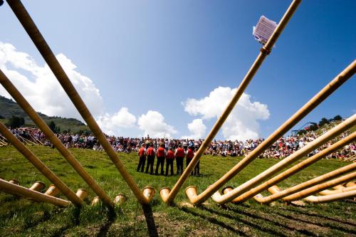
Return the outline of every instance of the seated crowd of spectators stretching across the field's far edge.
<path id="1" fill-rule="evenodd" d="M 297 151 L 301 147 L 304 147 L 308 142 L 312 142 L 318 136 L 327 132 L 329 127 L 324 127 L 317 131 L 305 132 L 300 135 L 290 135 L 288 137 L 281 137 L 276 142 L 274 142 L 271 147 L 266 149 L 259 158 L 275 158 L 281 159 L 283 157 L 288 157 L 293 152 Z M 45 146 L 52 146 L 51 142 L 46 139 L 46 136 L 41 132 L 41 130 L 33 128 L 19 128 L 11 130 L 11 132 L 16 135 L 23 142 L 35 142 L 43 144 Z M 342 135 L 336 137 L 335 139 L 325 143 L 323 146 L 315 149 L 313 152 L 310 152 L 308 156 L 311 156 L 326 147 L 329 147 L 331 144 L 337 142 L 337 140 L 342 139 L 349 135 L 350 132 L 344 132 Z M 73 134 L 57 134 L 58 139 L 67 147 L 67 148 L 83 148 L 83 149 L 94 149 L 96 151 L 103 150 L 103 147 L 100 145 L 98 140 L 93 135 L 73 135 Z M 155 149 L 159 147 L 159 144 L 164 144 L 165 149 L 176 149 L 179 144 L 182 144 L 185 150 L 187 147 L 193 147 L 194 149 L 199 149 L 203 139 L 167 139 L 167 138 L 150 138 L 141 137 L 141 138 L 130 138 L 130 137 L 115 137 L 115 136 L 106 136 L 108 142 L 111 144 L 115 152 L 138 152 L 141 145 L 153 144 Z M 258 144 L 261 144 L 264 139 L 248 139 L 246 141 L 231 141 L 231 140 L 214 140 L 209 144 L 209 147 L 205 150 L 204 154 L 211 154 L 213 156 L 219 157 L 241 157 L 246 156 L 255 149 Z M 345 159 L 347 157 L 352 157 L 356 154 L 355 142 L 347 144 L 345 147 L 339 151 L 330 154 L 327 158 L 337 158 Z"/>

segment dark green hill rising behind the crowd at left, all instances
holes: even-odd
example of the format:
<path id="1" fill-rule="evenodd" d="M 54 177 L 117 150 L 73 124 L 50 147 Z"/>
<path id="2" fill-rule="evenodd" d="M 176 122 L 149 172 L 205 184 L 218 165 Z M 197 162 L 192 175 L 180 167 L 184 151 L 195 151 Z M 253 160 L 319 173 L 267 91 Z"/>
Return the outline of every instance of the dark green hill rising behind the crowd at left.
<path id="1" fill-rule="evenodd" d="M 66 118 L 66 117 L 57 117 L 57 116 L 47 116 L 38 112 L 38 115 L 42 117 L 42 119 L 49 123 L 53 121 L 57 127 L 61 128 L 61 131 L 70 131 L 70 132 L 79 132 L 81 131 L 89 131 L 89 127 L 86 126 L 83 122 L 75 119 L 75 118 Z M 0 118 L 1 122 L 7 122 L 9 118 L 12 116 L 23 117 L 25 119 L 25 125 L 28 127 L 34 127 L 33 121 L 28 117 L 26 112 L 23 112 L 22 108 L 14 102 L 14 100 L 5 98 L 0 95 Z"/>

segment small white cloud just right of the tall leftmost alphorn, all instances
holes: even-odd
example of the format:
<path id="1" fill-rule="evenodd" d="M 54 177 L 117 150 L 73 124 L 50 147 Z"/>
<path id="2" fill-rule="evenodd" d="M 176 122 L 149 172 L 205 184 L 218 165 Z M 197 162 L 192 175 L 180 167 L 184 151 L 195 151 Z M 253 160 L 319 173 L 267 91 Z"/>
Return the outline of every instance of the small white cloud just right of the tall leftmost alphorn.
<path id="1" fill-rule="evenodd" d="M 114 115 L 105 113 L 98 118 L 97 122 L 108 135 L 120 135 L 120 129 L 135 127 L 136 117 L 129 112 L 127 107 L 122 107 Z"/>

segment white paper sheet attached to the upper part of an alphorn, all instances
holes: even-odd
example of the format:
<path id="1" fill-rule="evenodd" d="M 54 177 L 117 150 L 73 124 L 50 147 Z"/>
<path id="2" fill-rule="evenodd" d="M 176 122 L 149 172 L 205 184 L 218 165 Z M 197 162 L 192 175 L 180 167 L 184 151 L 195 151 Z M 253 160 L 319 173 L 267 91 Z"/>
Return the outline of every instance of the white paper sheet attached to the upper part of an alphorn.
<path id="1" fill-rule="evenodd" d="M 261 16 L 256 26 L 253 26 L 252 34 L 256 40 L 263 45 L 272 36 L 273 31 L 276 29 L 277 23 L 271 21 L 266 16 Z"/>

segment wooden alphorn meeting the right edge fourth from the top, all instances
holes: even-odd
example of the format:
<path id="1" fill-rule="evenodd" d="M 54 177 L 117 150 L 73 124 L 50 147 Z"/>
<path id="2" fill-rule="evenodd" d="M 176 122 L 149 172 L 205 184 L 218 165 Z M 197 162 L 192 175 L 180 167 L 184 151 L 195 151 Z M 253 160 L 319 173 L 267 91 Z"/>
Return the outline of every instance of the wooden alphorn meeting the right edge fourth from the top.
<path id="1" fill-rule="evenodd" d="M 314 179 L 310 179 L 308 181 L 305 181 L 301 184 L 292 186 L 288 189 L 285 190 L 281 190 L 278 193 L 273 193 L 271 196 L 265 196 L 265 197 L 261 197 L 260 195 L 258 196 L 254 196 L 253 199 L 255 199 L 256 201 L 258 201 L 261 204 L 269 204 L 272 201 L 276 201 L 278 199 L 283 199 L 286 196 L 290 196 L 292 194 L 297 193 L 298 191 L 302 191 L 304 189 L 308 189 L 311 186 L 315 186 L 317 184 L 322 184 L 325 181 L 328 181 L 330 179 L 334 179 L 336 177 L 340 177 L 343 174 L 347 174 L 349 172 L 354 172 L 356 170 L 356 163 L 353 164 L 348 164 L 345 167 L 341 167 L 339 169 L 335 169 L 332 172 L 328 172 L 327 174 L 323 174 L 320 175 L 319 177 L 315 177 Z M 274 185 L 273 187 L 275 187 L 276 189 L 278 189 L 278 186 Z M 271 188 L 270 188 L 271 189 Z M 271 191 L 270 189 L 268 189 L 268 191 Z"/>

